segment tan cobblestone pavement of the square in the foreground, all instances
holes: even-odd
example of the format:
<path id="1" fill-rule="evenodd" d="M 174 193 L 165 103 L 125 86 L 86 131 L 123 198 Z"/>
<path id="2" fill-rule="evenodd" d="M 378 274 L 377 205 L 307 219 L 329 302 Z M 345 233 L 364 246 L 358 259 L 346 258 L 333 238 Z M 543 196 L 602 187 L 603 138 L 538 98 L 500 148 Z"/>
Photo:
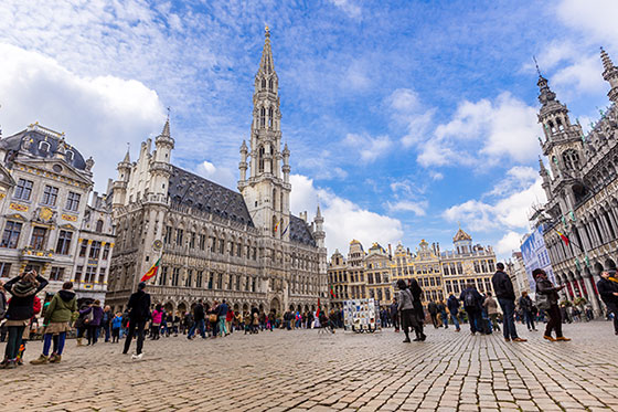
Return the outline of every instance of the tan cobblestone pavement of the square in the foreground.
<path id="1" fill-rule="evenodd" d="M 148 340 L 141 361 L 120 345 L 75 347 L 60 365 L 0 370 L 0 409 L 68 411 L 607 411 L 618 410 L 618 337 L 609 323 L 470 336 L 428 328 L 426 342 L 316 330 Z M 26 360 L 41 342 L 29 345 Z"/>

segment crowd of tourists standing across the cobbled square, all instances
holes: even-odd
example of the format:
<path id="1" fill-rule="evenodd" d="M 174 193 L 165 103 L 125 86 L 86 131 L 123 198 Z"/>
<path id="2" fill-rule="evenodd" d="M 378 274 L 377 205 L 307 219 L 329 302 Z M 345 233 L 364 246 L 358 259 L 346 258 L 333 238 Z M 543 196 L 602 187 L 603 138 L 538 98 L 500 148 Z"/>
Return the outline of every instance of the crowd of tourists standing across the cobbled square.
<path id="1" fill-rule="evenodd" d="M 459 296 L 450 294 L 447 302 L 431 302 L 426 305 L 428 321 L 435 327 L 448 328 L 449 321 L 455 331 L 461 330 L 461 324 L 468 323 L 471 335 L 502 331 L 505 341 L 521 342 L 518 320 L 529 330 L 535 331 L 540 321 L 545 321 L 543 338 L 550 341 L 568 341 L 564 337 L 562 325 L 571 321 L 573 313 L 565 311 L 560 303 L 560 290 L 564 286 L 554 285 L 543 270 L 533 271 L 536 281 L 535 299 L 528 293 L 518 298 L 504 265 L 497 264 L 498 271 L 492 277 L 493 290 L 479 293 L 475 285 L 468 284 Z M 129 352 L 131 342 L 137 340 L 134 359 L 141 359 L 143 340 L 187 335 L 192 340 L 200 334 L 202 339 L 224 338 L 234 331 L 245 335 L 274 329 L 294 330 L 301 328 L 321 328 L 334 332 L 343 328 L 343 313 L 326 313 L 318 307 L 316 311 L 287 310 L 284 314 L 259 311 L 235 311 L 225 299 L 214 302 L 212 306 L 199 300 L 190 311 L 167 311 L 161 304 L 152 305 L 150 295 L 142 282 L 128 302 L 124 313 L 111 311 L 109 306 L 102 307 L 99 300 L 78 299 L 73 290 L 73 283 L 65 282 L 56 294 L 46 294 L 45 299 L 36 296 L 47 286 L 47 281 L 36 272 L 22 273 L 6 284 L 0 282 L 0 340 L 7 340 L 1 369 L 13 369 L 23 365 L 23 355 L 32 331 L 42 320 L 43 350 L 32 365 L 57 363 L 62 360 L 65 342 L 70 334 L 75 332 L 77 346 L 94 346 L 99 335 L 105 342 L 118 344 L 125 339 L 122 353 Z M 393 327 L 404 331 L 404 342 L 424 341 L 426 323 L 423 305 L 423 289 L 411 278 L 396 283 L 398 294 L 388 307 L 380 313 L 382 327 Z M 614 319 L 615 334 L 618 335 L 618 278 L 616 271 L 603 272 L 597 283 L 599 295 L 607 307 L 607 314 Z M 152 307 L 153 306 L 153 307 Z M 499 308 L 501 310 L 499 310 Z M 39 317 L 40 315 L 40 317 Z M 411 339 L 414 332 L 414 339 Z M 86 344 L 84 344 L 84 338 Z"/>

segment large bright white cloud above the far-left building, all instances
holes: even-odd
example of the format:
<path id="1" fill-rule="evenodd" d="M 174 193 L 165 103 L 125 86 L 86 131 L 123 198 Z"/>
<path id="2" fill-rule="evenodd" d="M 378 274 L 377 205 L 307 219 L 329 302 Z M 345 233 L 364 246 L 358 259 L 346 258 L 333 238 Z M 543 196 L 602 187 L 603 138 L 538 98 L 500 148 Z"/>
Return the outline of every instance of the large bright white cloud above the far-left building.
<path id="1" fill-rule="evenodd" d="M 97 190 L 116 177 L 127 142 L 139 148 L 141 140 L 163 127 L 159 96 L 140 82 L 79 76 L 52 59 L 7 44 L 0 44 L 0 61 L 3 135 L 34 122 L 65 131 L 68 144 L 94 158 Z"/>

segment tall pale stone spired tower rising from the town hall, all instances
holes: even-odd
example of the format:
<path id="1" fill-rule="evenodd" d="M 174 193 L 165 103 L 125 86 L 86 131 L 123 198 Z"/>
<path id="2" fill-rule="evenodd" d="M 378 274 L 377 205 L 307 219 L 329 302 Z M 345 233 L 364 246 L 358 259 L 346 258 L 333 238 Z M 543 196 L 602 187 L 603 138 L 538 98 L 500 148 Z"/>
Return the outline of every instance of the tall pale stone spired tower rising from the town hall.
<path id="1" fill-rule="evenodd" d="M 289 237 L 290 222 L 289 150 L 281 151 L 281 113 L 279 110 L 279 80 L 275 72 L 270 32 L 266 39 L 259 68 L 255 75 L 251 146 L 241 146 L 241 179 L 243 194 L 254 224 L 262 234 L 274 239 Z M 251 158 L 247 163 L 247 157 Z M 247 178 L 247 167 L 249 176 Z M 285 233 L 284 233 L 285 232 Z"/>

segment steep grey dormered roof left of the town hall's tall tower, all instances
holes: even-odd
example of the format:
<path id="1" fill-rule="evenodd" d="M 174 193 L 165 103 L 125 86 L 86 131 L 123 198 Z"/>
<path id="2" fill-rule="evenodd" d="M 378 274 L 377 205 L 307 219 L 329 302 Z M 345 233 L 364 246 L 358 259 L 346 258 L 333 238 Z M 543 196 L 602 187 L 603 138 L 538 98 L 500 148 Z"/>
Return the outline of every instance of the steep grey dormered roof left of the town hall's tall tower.
<path id="1" fill-rule="evenodd" d="M 175 166 L 172 166 L 168 194 L 172 201 L 253 226 L 241 193 Z"/>

